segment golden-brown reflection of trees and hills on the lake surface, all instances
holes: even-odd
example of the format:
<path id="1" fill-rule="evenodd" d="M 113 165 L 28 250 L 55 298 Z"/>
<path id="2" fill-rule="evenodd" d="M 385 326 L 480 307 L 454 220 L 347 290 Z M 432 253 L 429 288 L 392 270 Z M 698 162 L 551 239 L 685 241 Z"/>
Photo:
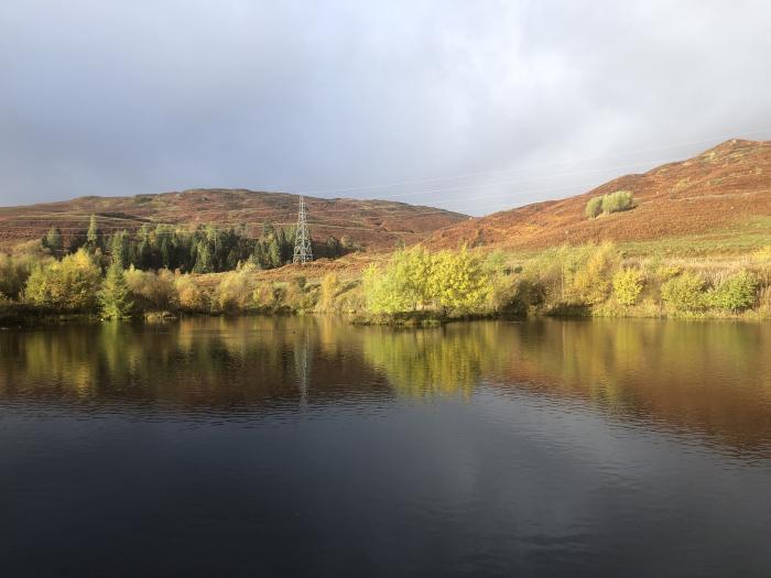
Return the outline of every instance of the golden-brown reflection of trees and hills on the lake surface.
<path id="1" fill-rule="evenodd" d="M 393 330 L 254 317 L 4 331 L 0 346 L 6 402 L 306 406 L 313 374 L 317 401 L 389 391 L 468 401 L 484 383 L 584 399 L 607 414 L 737 447 L 771 439 L 769 325 L 544 320 Z"/>

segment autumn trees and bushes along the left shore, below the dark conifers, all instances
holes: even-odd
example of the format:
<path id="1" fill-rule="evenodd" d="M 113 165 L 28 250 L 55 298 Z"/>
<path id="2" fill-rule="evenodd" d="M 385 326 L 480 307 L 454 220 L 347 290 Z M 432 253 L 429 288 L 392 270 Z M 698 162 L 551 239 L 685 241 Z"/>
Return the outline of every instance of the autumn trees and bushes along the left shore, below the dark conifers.
<path id="1" fill-rule="evenodd" d="M 142 271 L 116 258 L 105 273 L 85 248 L 61 261 L 0 257 L 0 313 L 23 315 L 94 315 L 128 319 L 149 313 L 234 314 L 311 309 L 329 302 L 337 286 L 334 275 L 307 283 L 259 282 L 251 263 L 235 271 L 197 275 L 167 269 Z"/>

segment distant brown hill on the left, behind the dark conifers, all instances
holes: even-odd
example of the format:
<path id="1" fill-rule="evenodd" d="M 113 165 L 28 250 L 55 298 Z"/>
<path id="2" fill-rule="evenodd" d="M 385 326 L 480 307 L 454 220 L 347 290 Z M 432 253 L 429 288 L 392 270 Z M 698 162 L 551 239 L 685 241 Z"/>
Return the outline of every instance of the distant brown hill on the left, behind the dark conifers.
<path id="1" fill-rule="evenodd" d="M 468 217 L 432 207 L 384 200 L 305 197 L 311 235 L 324 241 L 349 237 L 355 243 L 379 250 L 399 240 L 410 244 L 431 232 Z M 296 222 L 296 195 L 240 189 L 192 189 L 135 197 L 80 197 L 63 203 L 0 207 L 0 244 L 41 238 L 56 226 L 65 239 L 88 227 L 91 214 L 102 231 L 135 230 L 144 223 L 228 227 L 246 223 L 252 233 L 263 221 L 289 227 Z"/>

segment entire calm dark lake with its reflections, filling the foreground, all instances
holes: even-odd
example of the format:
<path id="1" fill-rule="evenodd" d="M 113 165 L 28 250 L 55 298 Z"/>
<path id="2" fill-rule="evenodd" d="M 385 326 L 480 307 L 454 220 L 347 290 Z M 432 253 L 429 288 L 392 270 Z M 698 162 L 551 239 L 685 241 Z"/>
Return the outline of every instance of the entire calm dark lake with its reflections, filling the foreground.
<path id="1" fill-rule="evenodd" d="M 2 576 L 771 576 L 771 325 L 0 331 Z"/>

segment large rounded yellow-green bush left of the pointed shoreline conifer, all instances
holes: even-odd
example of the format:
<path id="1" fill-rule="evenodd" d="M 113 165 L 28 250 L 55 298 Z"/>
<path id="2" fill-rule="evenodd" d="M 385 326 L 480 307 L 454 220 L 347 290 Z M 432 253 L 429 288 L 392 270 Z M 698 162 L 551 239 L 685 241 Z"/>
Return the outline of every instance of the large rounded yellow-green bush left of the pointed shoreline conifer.
<path id="1" fill-rule="evenodd" d="M 62 312 L 90 313 L 96 309 L 101 272 L 85 251 L 61 262 L 39 265 L 30 275 L 24 298 L 39 306 Z"/>

